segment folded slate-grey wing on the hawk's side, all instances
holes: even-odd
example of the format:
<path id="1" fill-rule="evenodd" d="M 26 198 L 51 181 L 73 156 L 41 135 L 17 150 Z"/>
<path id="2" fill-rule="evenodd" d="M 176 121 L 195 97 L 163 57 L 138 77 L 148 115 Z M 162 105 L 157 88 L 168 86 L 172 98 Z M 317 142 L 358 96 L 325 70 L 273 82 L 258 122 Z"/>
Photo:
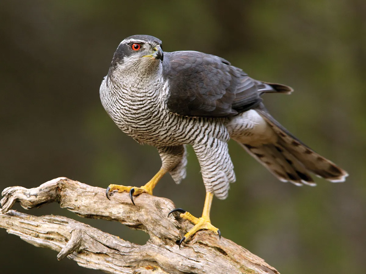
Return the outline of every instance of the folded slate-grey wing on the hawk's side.
<path id="1" fill-rule="evenodd" d="M 276 90 L 225 59 L 201 52 L 164 53 L 163 73 L 169 81 L 167 106 L 184 116 L 230 117 L 257 106 L 263 92 Z"/>

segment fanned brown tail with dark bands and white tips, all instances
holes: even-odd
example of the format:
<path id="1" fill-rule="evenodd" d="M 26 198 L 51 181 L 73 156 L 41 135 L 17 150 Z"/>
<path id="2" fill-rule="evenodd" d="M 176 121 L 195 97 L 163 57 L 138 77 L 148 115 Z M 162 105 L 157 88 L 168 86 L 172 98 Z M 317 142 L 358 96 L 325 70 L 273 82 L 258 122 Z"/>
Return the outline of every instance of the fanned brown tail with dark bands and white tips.
<path id="1" fill-rule="evenodd" d="M 330 182 L 344 182 L 348 173 L 332 161 L 319 155 L 293 136 L 277 122 L 264 108 L 263 104 L 255 109 L 273 130 L 276 138 L 272 142 L 253 142 L 239 144 L 273 175 L 283 182 L 298 186 L 315 186 L 309 171 Z M 271 130 L 271 131 L 272 131 Z"/>

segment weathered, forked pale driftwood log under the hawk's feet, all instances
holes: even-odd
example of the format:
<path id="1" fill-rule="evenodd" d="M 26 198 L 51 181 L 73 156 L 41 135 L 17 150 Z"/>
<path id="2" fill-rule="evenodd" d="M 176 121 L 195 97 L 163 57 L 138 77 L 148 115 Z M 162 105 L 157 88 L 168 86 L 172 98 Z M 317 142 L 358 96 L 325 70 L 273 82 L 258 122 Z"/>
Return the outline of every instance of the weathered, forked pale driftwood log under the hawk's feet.
<path id="1" fill-rule="evenodd" d="M 114 195 L 113 195 L 114 194 Z M 197 273 L 278 274 L 263 259 L 213 232 L 199 231 L 179 249 L 176 241 L 192 224 L 168 212 L 172 201 L 147 194 L 135 197 L 113 193 L 109 201 L 105 189 L 67 178 L 56 178 L 39 187 L 6 188 L 1 200 L 0 227 L 37 247 L 59 252 L 80 266 L 107 273 Z M 90 225 L 62 216 L 31 216 L 10 210 L 15 202 L 25 209 L 58 202 L 81 217 L 119 221 L 150 235 L 144 245 L 130 243 Z"/>

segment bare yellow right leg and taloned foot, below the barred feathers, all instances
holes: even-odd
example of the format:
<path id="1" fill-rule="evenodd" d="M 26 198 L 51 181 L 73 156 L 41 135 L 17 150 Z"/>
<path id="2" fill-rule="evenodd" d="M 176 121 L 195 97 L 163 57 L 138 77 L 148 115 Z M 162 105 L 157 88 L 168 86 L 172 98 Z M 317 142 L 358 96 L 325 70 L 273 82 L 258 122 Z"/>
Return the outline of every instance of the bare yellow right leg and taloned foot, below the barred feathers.
<path id="1" fill-rule="evenodd" d="M 211 209 L 211 205 L 212 205 L 212 198 L 213 198 L 213 193 L 207 192 L 206 199 L 205 199 L 205 205 L 203 205 L 203 212 L 202 212 L 201 218 L 196 218 L 191 213 L 189 213 L 181 208 L 176 208 L 176 209 L 173 209 L 171 212 L 169 212 L 169 214 L 171 214 L 172 212 L 175 212 L 175 211 L 181 212 L 180 213 L 181 218 L 186 219 L 194 224 L 194 227 L 190 231 L 188 231 L 186 233 L 186 235 L 183 236 L 182 239 L 180 239 L 180 241 L 178 243 L 179 248 L 180 248 L 180 244 L 182 244 L 182 242 L 184 240 L 193 236 L 199 230 L 203 230 L 203 229 L 211 230 L 215 234 L 219 235 L 219 237 L 221 237 L 220 230 L 218 228 L 214 227 L 210 221 L 210 209 Z"/>

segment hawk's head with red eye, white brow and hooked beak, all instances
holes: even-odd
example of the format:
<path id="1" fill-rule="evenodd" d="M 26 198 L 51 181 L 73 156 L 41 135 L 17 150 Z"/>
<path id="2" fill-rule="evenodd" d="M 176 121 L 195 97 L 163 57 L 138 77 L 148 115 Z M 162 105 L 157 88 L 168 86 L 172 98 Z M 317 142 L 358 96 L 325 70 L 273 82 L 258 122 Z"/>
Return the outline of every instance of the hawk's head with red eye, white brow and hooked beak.
<path id="1" fill-rule="evenodd" d="M 161 67 L 163 57 L 160 39 L 150 35 L 133 35 L 117 47 L 109 74 L 154 74 Z"/>

